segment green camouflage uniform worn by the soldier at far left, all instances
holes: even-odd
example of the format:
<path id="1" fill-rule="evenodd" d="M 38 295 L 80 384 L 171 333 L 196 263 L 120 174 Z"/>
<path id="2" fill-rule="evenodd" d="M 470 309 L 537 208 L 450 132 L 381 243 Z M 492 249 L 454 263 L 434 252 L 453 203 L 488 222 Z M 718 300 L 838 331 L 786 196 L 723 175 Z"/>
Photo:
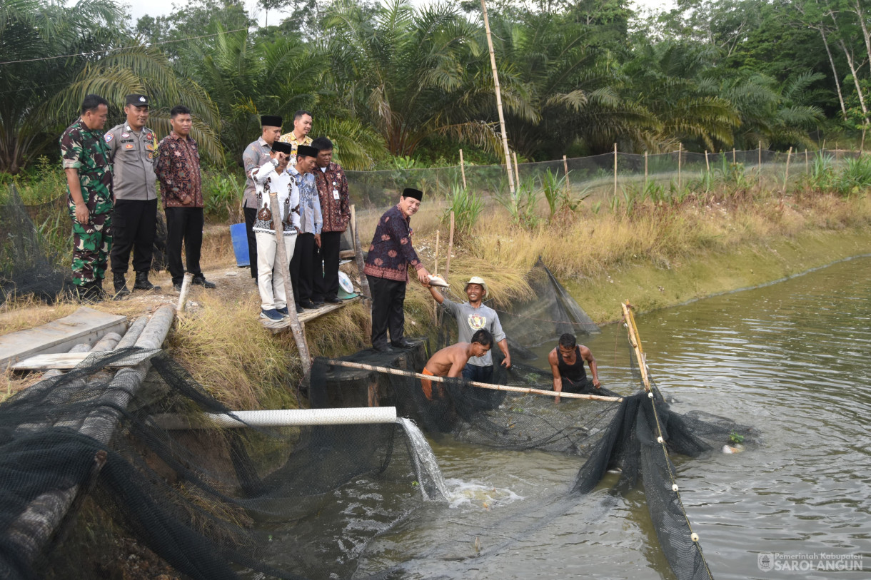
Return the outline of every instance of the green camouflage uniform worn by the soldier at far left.
<path id="1" fill-rule="evenodd" d="M 72 281 L 84 286 L 103 280 L 111 251 L 112 175 L 109 145 L 102 131 L 91 131 L 82 119 L 67 127 L 60 138 L 64 169 L 77 169 L 82 199 L 91 218 L 81 224 L 76 204 L 67 187 L 67 205 L 72 219 Z"/>

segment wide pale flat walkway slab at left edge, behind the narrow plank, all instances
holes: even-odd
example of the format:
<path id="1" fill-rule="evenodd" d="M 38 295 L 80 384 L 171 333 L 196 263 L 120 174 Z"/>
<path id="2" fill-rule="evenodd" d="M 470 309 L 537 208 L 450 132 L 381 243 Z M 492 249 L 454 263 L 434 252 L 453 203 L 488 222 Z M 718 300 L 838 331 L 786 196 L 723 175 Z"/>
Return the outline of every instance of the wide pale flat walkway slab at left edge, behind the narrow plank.
<path id="1" fill-rule="evenodd" d="M 0 369 L 34 354 L 67 353 L 82 342 L 93 345 L 104 334 L 124 334 L 126 328 L 126 316 L 81 307 L 40 327 L 0 336 Z"/>

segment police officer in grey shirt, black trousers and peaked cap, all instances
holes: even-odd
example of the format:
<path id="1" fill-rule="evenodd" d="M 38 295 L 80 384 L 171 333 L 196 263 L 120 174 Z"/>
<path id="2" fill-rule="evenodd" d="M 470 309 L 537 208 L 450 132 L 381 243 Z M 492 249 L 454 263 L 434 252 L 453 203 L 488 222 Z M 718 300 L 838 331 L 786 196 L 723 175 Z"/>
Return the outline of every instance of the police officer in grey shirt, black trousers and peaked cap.
<path id="1" fill-rule="evenodd" d="M 123 298 L 127 289 L 125 275 L 133 253 L 134 290 L 159 290 L 148 281 L 152 267 L 152 247 L 157 232 L 157 162 L 158 138 L 147 128 L 149 102 L 145 95 L 127 95 L 124 123 L 105 134 L 114 164 L 115 208 L 112 212 L 114 234 L 111 248 L 111 272 L 115 295 Z"/>

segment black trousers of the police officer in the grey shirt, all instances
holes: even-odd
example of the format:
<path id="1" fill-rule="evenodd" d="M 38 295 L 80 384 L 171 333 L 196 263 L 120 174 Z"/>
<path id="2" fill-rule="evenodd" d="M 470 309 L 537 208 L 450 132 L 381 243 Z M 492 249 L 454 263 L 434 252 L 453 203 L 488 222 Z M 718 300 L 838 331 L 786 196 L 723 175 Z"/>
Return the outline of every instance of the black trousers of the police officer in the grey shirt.
<path id="1" fill-rule="evenodd" d="M 127 273 L 130 253 L 133 272 L 152 268 L 152 249 L 158 226 L 158 200 L 116 199 L 112 208 L 111 272 Z"/>

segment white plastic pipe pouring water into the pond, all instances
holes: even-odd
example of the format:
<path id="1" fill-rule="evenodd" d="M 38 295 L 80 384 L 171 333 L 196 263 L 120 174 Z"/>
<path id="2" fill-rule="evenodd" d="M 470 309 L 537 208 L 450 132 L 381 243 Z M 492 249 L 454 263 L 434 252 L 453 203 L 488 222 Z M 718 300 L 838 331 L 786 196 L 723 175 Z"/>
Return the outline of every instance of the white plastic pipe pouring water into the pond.
<path id="1" fill-rule="evenodd" d="M 358 425 L 393 423 L 395 407 L 304 408 L 266 411 L 233 411 L 233 415 L 206 413 L 203 421 L 192 423 L 185 415 L 152 415 L 152 421 L 167 430 L 240 427 L 303 427 L 311 425 Z"/>

